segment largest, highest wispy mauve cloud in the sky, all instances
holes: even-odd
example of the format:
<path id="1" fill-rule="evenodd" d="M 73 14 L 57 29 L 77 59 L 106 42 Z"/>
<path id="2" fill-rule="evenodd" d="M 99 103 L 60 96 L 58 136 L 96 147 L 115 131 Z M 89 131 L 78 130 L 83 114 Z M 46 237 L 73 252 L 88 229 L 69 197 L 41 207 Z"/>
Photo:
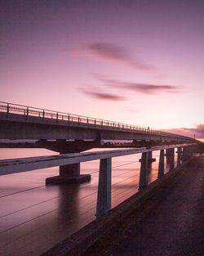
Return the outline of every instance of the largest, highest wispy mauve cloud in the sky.
<path id="1" fill-rule="evenodd" d="M 126 49 L 114 43 L 87 43 L 82 46 L 74 47 L 72 52 L 93 56 L 100 61 L 109 61 L 127 65 L 135 70 L 156 70 L 152 65 L 145 65 L 139 60 L 133 60 Z"/>

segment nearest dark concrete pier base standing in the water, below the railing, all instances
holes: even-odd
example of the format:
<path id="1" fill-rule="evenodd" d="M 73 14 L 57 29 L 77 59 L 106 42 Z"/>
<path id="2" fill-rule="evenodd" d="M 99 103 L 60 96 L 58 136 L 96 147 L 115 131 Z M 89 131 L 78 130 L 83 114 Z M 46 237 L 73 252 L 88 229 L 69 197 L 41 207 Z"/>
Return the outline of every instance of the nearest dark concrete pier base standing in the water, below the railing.
<path id="1" fill-rule="evenodd" d="M 80 174 L 80 163 L 60 166 L 60 175 L 47 177 L 46 184 L 82 183 L 91 180 L 90 174 Z"/>

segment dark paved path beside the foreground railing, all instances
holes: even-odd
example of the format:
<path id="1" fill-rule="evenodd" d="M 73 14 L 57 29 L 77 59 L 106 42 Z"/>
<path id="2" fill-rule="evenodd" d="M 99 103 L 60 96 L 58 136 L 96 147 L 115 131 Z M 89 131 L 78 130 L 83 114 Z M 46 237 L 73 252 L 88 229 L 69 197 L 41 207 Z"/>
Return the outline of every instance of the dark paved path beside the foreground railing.
<path id="1" fill-rule="evenodd" d="M 204 156 L 85 255 L 203 256 Z"/>

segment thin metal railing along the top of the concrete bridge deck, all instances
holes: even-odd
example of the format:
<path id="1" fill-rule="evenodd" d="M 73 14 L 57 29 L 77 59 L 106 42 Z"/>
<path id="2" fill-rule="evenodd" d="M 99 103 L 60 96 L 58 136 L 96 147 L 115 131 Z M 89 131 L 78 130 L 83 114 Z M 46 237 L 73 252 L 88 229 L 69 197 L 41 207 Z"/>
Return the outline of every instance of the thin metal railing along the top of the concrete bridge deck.
<path id="1" fill-rule="evenodd" d="M 95 119 L 83 115 L 73 115 L 69 113 L 64 113 L 60 111 L 54 111 L 54 110 L 46 110 L 31 106 L 23 106 L 18 104 L 12 104 L 8 102 L 0 101 L 0 112 L 6 113 L 7 116 L 10 114 L 16 114 L 16 115 L 23 115 L 25 119 L 28 119 L 29 117 L 38 117 L 42 121 L 45 119 L 54 119 L 57 123 L 58 121 L 61 122 L 67 122 L 67 123 L 76 123 L 76 124 L 92 124 L 95 126 L 100 127 L 106 127 L 106 128 L 115 128 L 115 129 L 122 129 L 122 130 L 135 130 L 135 131 L 142 131 L 142 132 L 149 132 L 153 134 L 158 135 L 164 135 L 164 136 L 173 136 L 178 138 L 188 138 L 176 134 L 172 134 L 170 132 L 161 132 L 157 131 L 153 128 L 144 128 L 139 125 L 131 125 L 131 124 L 122 124 L 119 122 L 113 122 L 110 120 L 104 120 L 104 119 Z"/>

